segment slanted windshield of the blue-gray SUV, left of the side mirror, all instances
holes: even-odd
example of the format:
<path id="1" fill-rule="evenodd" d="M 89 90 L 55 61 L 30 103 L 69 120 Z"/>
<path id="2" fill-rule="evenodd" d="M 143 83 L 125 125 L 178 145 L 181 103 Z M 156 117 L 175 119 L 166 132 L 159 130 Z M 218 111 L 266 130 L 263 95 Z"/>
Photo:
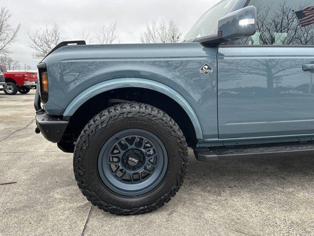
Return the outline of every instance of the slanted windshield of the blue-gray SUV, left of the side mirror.
<path id="1" fill-rule="evenodd" d="M 216 34 L 218 21 L 228 14 L 236 0 L 223 0 L 210 8 L 185 35 L 183 41 Z"/>

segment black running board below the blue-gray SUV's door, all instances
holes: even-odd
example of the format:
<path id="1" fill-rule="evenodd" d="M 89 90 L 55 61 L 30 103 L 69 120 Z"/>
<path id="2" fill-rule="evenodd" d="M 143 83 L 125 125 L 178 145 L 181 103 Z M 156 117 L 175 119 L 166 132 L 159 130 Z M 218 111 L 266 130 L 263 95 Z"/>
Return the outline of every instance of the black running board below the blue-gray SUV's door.
<path id="1" fill-rule="evenodd" d="M 253 156 L 304 155 L 314 154 L 314 142 L 195 148 L 194 154 L 196 159 L 206 162 Z"/>

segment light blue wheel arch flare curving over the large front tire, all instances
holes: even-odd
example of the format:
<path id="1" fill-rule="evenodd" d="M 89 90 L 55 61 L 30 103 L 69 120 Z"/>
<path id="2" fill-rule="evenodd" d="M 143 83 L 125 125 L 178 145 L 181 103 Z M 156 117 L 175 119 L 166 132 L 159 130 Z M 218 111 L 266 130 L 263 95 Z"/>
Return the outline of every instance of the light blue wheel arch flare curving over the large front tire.
<path id="1" fill-rule="evenodd" d="M 203 139 L 203 132 L 199 119 L 197 118 L 191 105 L 185 100 L 185 98 L 178 93 L 176 90 L 161 84 L 156 81 L 140 78 L 120 78 L 112 79 L 108 81 L 101 82 L 94 86 L 91 86 L 88 89 L 85 89 L 76 96 L 71 103 L 65 109 L 63 116 L 71 117 L 78 110 L 78 108 L 83 105 L 84 102 L 88 101 L 90 98 L 100 94 L 102 92 L 112 90 L 112 89 L 121 89 L 121 88 L 143 88 L 143 89 L 152 89 L 163 93 L 164 95 L 175 100 L 186 112 L 190 118 L 196 133 L 197 139 Z"/>

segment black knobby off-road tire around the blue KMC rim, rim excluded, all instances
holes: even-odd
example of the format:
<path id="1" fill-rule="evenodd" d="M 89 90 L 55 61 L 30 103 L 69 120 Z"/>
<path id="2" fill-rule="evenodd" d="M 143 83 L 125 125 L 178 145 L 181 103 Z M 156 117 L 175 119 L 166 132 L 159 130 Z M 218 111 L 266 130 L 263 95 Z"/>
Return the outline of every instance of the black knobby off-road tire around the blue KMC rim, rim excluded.
<path id="1" fill-rule="evenodd" d="M 123 196 L 104 184 L 97 160 L 107 139 L 121 130 L 134 128 L 152 132 L 162 141 L 168 165 L 153 190 L 139 196 Z M 74 150 L 73 164 L 78 187 L 94 206 L 112 214 L 143 214 L 162 207 L 179 191 L 187 171 L 187 144 L 178 124 L 163 111 L 147 104 L 123 103 L 105 109 L 84 127 Z"/>

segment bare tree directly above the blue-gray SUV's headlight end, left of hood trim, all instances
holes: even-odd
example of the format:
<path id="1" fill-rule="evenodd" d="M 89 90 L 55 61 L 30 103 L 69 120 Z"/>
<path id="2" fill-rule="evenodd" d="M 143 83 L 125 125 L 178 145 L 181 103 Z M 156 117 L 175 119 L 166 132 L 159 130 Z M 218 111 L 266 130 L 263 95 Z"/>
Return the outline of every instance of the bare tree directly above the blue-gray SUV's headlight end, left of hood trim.
<path id="1" fill-rule="evenodd" d="M 35 32 L 28 31 L 31 40 L 29 47 L 34 49 L 33 58 L 44 58 L 60 42 L 65 41 L 66 37 L 61 35 L 59 26 L 54 24 L 52 28 L 46 26 L 45 29 L 36 29 Z"/>

